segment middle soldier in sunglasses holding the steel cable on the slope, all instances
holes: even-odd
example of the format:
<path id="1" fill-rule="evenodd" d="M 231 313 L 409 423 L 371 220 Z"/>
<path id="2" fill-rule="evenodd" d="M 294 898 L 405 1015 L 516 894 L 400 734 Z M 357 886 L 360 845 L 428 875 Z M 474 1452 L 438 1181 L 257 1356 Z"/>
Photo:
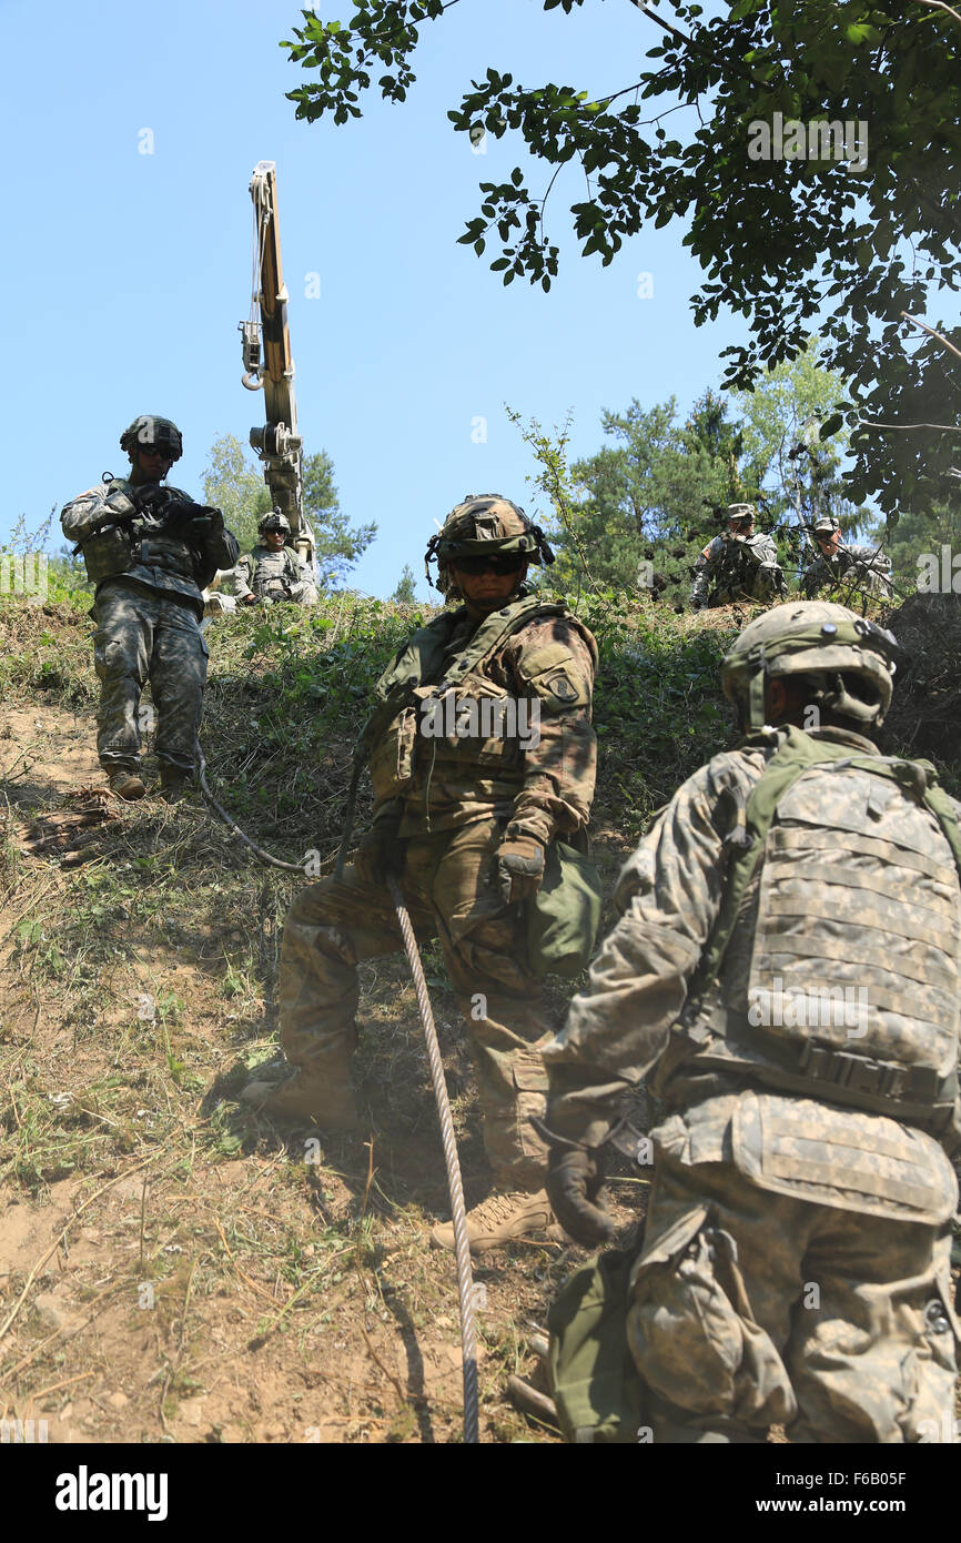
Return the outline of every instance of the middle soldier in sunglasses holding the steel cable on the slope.
<path id="1" fill-rule="evenodd" d="M 475 1253 L 545 1228 L 546 1148 L 538 1043 L 551 1035 L 524 943 L 524 901 L 555 835 L 583 832 L 594 796 L 591 696 L 597 645 L 563 605 L 524 586 L 552 562 L 540 529 L 497 495 L 467 497 L 427 548 L 446 609 L 378 684 L 366 742 L 373 827 L 342 880 L 295 898 L 281 957 L 285 1082 L 245 1102 L 349 1129 L 356 1113 L 356 966 L 403 947 L 386 875 L 418 940 L 437 937 L 467 1025 L 495 1193 L 467 1217 Z M 432 1241 L 454 1248 L 454 1228 Z"/>

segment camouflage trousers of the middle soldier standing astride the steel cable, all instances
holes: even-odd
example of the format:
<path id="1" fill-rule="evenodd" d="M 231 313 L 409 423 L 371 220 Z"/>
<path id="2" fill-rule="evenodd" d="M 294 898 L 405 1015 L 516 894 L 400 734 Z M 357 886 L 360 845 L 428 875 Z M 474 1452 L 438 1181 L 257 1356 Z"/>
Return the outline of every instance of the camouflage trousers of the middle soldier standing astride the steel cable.
<path id="1" fill-rule="evenodd" d="M 497 819 L 418 836 L 398 875 L 418 943 L 438 938 L 464 1014 L 477 1071 L 484 1150 L 497 1182 L 543 1187 L 548 1153 L 529 1123 L 543 1116 L 548 1077 L 537 1051 L 554 1032 L 526 960 L 523 917 L 497 886 Z M 284 927 L 281 1042 L 298 1066 L 344 1066 L 358 1008 L 356 966 L 403 947 L 386 890 L 349 867 L 302 889 Z"/>

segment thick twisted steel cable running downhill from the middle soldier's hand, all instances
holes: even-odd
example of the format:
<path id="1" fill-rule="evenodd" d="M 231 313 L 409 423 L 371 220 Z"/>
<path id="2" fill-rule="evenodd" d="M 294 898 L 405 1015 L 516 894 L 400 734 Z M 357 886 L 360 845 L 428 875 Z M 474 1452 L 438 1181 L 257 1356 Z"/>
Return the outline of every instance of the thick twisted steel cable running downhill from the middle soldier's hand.
<path id="1" fill-rule="evenodd" d="M 454 1117 L 450 1114 L 450 1100 L 447 1097 L 447 1083 L 444 1080 L 444 1063 L 441 1060 L 441 1048 L 437 1040 L 437 1026 L 433 1023 L 433 1011 L 430 1008 L 430 997 L 427 994 L 427 981 L 424 980 L 424 967 L 421 964 L 421 955 L 416 946 L 416 938 L 413 937 L 413 927 L 410 924 L 410 917 L 404 904 L 404 896 L 401 895 L 400 886 L 393 873 L 387 875 L 387 886 L 390 889 L 390 898 L 393 901 L 396 920 L 401 927 L 401 937 L 404 938 L 404 949 L 407 950 L 407 963 L 410 964 L 410 974 L 413 975 L 413 989 L 416 991 L 416 1006 L 420 1009 L 421 1023 L 424 1026 L 424 1037 L 427 1040 L 427 1060 L 430 1062 L 430 1080 L 433 1083 L 433 1097 L 437 1100 L 437 1113 L 441 1122 L 444 1163 L 447 1167 L 447 1191 L 450 1194 L 450 1214 L 454 1219 L 454 1251 L 457 1256 L 457 1295 L 460 1298 L 460 1310 L 461 1310 L 461 1358 L 464 1364 L 464 1443 L 467 1443 L 469 1446 L 475 1446 L 480 1443 L 478 1401 L 477 1401 L 475 1287 L 474 1287 L 474 1273 L 470 1270 L 470 1248 L 467 1245 L 467 1213 L 464 1210 L 464 1187 L 461 1183 L 461 1165 L 457 1156 L 457 1137 L 454 1134 Z"/>

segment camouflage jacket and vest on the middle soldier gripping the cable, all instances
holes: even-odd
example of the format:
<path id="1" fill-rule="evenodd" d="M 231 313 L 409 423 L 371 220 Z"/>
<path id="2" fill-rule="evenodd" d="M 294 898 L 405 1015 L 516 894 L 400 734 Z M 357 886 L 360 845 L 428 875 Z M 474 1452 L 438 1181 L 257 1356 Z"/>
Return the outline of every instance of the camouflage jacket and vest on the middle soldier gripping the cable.
<path id="1" fill-rule="evenodd" d="M 531 619 L 477 662 L 455 691 L 438 696 L 437 685 L 481 628 L 497 626 L 498 619 L 509 623 L 521 603 Z M 421 676 L 412 654 L 418 639 L 435 654 L 433 668 Z M 400 835 L 415 836 L 494 813 L 511 822 L 512 835 L 545 844 L 582 830 L 597 767 L 595 668 L 594 637 L 563 606 L 521 596 L 480 623 L 466 606 L 441 613 L 387 671 L 409 682 L 410 705 L 372 747 L 375 819 L 400 815 Z"/>

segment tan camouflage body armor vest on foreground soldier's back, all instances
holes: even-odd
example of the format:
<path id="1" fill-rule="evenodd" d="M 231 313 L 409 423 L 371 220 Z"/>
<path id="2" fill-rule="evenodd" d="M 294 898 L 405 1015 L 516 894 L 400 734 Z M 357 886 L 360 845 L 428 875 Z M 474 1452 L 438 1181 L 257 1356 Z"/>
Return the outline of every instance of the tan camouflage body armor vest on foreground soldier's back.
<path id="1" fill-rule="evenodd" d="M 683 1060 L 942 1131 L 961 984 L 952 802 L 927 762 L 779 739 L 728 832 L 722 910 L 657 1082 Z"/>

